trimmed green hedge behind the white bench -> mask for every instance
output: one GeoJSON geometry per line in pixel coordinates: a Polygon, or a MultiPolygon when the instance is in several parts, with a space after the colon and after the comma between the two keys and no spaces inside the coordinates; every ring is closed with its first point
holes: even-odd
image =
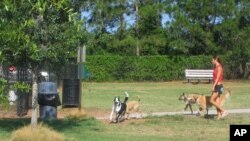
{"type": "Polygon", "coordinates": [[[212,69],[211,56],[88,56],[90,81],[170,81],[184,70],[212,69]]]}

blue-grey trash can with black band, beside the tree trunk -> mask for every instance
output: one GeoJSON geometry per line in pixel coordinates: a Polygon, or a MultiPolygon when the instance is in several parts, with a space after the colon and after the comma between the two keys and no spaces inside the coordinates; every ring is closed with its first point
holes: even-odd
{"type": "Polygon", "coordinates": [[[57,85],[54,82],[41,82],[38,85],[39,117],[41,119],[56,119],[59,106],[57,85]]]}

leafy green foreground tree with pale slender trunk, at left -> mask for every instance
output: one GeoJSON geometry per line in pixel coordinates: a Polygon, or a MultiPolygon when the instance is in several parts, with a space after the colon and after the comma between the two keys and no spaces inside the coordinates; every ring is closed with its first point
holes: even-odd
{"type": "Polygon", "coordinates": [[[26,66],[33,72],[32,125],[37,124],[40,69],[60,69],[72,61],[77,47],[84,42],[79,11],[74,6],[70,0],[0,2],[1,52],[9,63],[26,66]]]}

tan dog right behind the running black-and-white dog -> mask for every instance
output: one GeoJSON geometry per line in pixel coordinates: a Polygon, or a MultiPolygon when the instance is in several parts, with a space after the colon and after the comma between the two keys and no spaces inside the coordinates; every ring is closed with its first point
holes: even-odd
{"type": "Polygon", "coordinates": [[[127,119],[129,119],[129,114],[133,112],[140,112],[140,97],[137,96],[138,100],[137,101],[129,101],[127,103],[127,109],[126,109],[126,114],[127,114],[127,119]]]}

